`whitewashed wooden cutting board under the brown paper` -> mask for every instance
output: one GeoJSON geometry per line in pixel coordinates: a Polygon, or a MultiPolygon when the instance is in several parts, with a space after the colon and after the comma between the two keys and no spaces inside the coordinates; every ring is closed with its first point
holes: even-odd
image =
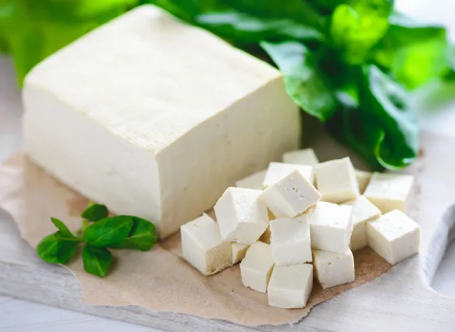
{"type": "MultiPolygon", "coordinates": [[[[312,133],[322,160],[348,152],[312,133]]],[[[262,331],[453,331],[455,299],[429,286],[455,224],[455,137],[424,131],[422,153],[410,167],[416,177],[410,214],[422,226],[420,254],[392,267],[378,279],[319,304],[300,323],[261,326],[262,331]]],[[[153,326],[164,331],[257,331],[227,321],[156,312],[136,306],[90,306],[80,301],[75,277],[63,267],[39,260],[21,240],[16,223],[0,214],[0,292],[11,297],[153,326]]]]}

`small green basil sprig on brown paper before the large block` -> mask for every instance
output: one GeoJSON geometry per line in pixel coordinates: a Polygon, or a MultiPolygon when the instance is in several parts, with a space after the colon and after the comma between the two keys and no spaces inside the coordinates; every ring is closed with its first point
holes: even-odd
{"type": "Polygon", "coordinates": [[[81,214],[82,227],[76,236],[57,218],[50,218],[58,231],[38,243],[38,256],[53,264],[66,264],[76,254],[79,243],[82,249],[84,270],[105,277],[112,265],[109,248],[150,250],[158,236],[153,223],[136,216],[109,216],[107,207],[90,202],[81,214]]]}

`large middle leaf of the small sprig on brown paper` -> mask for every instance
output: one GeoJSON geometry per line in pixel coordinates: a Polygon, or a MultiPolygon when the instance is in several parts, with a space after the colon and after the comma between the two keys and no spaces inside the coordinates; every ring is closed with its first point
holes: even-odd
{"type": "Polygon", "coordinates": [[[122,245],[133,226],[129,216],[112,216],[101,219],[88,226],[83,234],[84,240],[99,248],[122,245]]]}

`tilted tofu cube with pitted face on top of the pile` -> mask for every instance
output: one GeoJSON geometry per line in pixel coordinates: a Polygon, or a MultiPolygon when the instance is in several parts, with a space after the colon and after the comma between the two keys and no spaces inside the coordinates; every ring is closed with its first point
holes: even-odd
{"type": "Polygon", "coordinates": [[[321,194],[298,170],[264,190],[260,199],[277,218],[294,218],[321,199],[321,194]]]}

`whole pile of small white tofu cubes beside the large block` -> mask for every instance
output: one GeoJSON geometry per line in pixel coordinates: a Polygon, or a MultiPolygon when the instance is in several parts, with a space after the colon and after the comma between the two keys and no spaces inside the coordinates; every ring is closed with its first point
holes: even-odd
{"type": "Polygon", "coordinates": [[[323,288],[355,280],[354,250],[369,245],[390,264],[418,252],[419,225],[403,212],[412,182],[291,151],[228,188],[217,221],[181,226],[183,258],[203,275],[240,262],[245,287],[267,292],[270,306],[303,308],[314,277],[323,288]]]}

